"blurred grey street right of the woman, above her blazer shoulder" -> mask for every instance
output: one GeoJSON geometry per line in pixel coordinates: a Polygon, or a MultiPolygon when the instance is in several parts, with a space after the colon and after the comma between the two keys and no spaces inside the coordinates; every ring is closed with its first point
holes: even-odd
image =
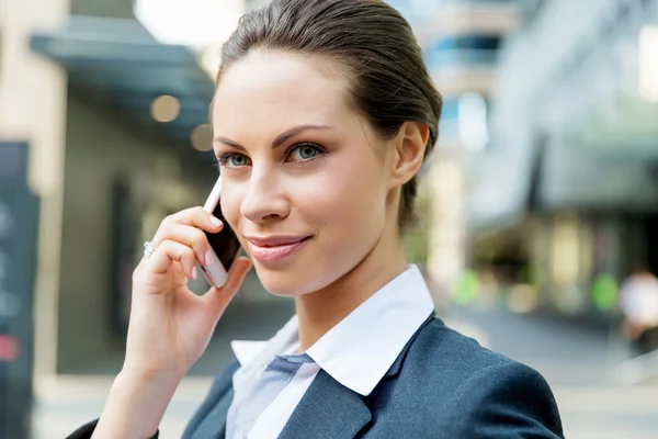
{"type": "Polygon", "coordinates": [[[567,438],[658,438],[658,385],[622,386],[614,370],[626,349],[614,337],[515,314],[473,313],[463,324],[487,347],[532,365],[551,383],[567,438]]]}

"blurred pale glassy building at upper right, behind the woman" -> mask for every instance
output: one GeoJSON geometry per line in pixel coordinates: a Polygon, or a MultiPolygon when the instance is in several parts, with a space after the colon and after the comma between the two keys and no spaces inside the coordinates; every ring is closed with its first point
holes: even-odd
{"type": "Polygon", "coordinates": [[[544,0],[499,52],[472,263],[512,266],[536,306],[604,316],[602,277],[658,270],[657,26],[656,0],[544,0]]]}

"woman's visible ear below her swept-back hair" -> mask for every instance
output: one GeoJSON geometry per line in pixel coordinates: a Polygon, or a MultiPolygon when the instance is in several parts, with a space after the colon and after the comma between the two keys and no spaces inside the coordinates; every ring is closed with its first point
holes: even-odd
{"type": "Polygon", "coordinates": [[[393,154],[390,187],[401,187],[420,170],[424,158],[430,128],[422,122],[405,122],[396,137],[393,154]]]}

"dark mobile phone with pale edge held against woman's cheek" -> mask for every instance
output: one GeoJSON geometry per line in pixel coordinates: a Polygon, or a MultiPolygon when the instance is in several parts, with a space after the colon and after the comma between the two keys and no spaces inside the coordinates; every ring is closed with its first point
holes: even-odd
{"type": "Polygon", "coordinates": [[[240,251],[240,241],[222,214],[222,206],[219,203],[220,194],[222,178],[217,178],[217,182],[203,206],[205,211],[211,212],[224,223],[224,227],[219,233],[211,234],[204,232],[211,245],[213,263],[206,267],[200,264],[200,269],[211,286],[215,288],[224,286],[228,280],[228,270],[230,270],[230,267],[240,251]]]}

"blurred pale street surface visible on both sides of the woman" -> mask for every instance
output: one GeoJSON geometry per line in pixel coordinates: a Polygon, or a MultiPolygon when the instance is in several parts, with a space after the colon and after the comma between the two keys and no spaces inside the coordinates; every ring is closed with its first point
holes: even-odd
{"type": "MultiPolygon", "coordinates": [[[[222,337],[222,328],[230,326],[231,334],[243,338],[253,338],[250,327],[259,327],[259,333],[273,333],[290,315],[291,309],[285,305],[262,306],[258,312],[251,306],[249,315],[239,322],[234,318],[239,306],[232,308],[207,354],[180,386],[161,425],[163,439],[180,438],[204,397],[211,379],[198,374],[218,370],[229,358],[229,339],[222,337]],[[265,328],[263,322],[271,323],[270,327],[265,328]]],[[[616,384],[613,370],[623,361],[625,350],[619,341],[611,342],[605,334],[549,318],[503,312],[463,312],[446,322],[487,347],[542,372],[556,394],[567,438],[658,438],[658,384],[616,384]]],[[[45,384],[35,410],[35,439],[59,439],[99,416],[111,380],[111,375],[70,375],[60,378],[57,384],[45,384]]]]}

